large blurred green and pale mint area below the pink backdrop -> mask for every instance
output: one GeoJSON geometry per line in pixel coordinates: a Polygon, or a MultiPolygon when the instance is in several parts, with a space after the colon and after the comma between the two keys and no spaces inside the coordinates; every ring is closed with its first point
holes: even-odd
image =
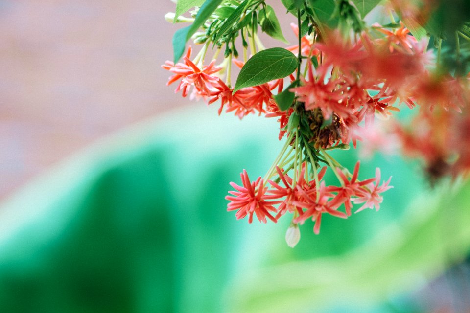
{"type": "Polygon", "coordinates": [[[416,163],[376,155],[359,177],[393,176],[380,211],[326,216],[319,235],[306,222],[292,249],[287,216],[236,221],[224,200],[242,169],[262,176],[277,155],[275,119],[216,109],[196,103],[104,138],[6,201],[0,312],[469,308],[467,182],[430,189],[416,163]]]}

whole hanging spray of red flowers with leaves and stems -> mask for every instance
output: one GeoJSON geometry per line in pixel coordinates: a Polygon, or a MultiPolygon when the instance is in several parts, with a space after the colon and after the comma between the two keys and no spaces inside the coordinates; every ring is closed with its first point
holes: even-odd
{"type": "Polygon", "coordinates": [[[279,122],[284,144],[264,177],[253,180],[243,170],[241,184],[230,183],[227,210],[236,211],[237,219],[276,223],[289,216],[286,241],[295,246],[298,224],[306,220],[318,234],[323,214],[346,219],[365,208],[378,210],[382,193],[392,188],[390,179],[381,180],[378,168],[375,177],[360,179],[359,161],[350,171],[330,150],[355,148],[377,116],[393,117],[403,104],[419,107],[412,125],[420,127],[397,121],[382,136],[394,133],[405,155],[423,160],[431,179],[468,171],[465,0],[281,0],[284,12],[297,20],[291,28],[298,42],[268,49],[259,32],[286,40],[267,2],[179,1],[176,13],[167,15],[172,22],[190,23],[174,35],[174,62],[162,66],[173,73],[168,85],[177,84],[183,97],[218,103],[219,114],[242,119],[257,113],[279,122]],[[190,17],[183,17],[191,9],[190,17]],[[374,9],[388,14],[390,22],[367,25],[364,17],[374,9]],[[202,46],[195,57],[186,49],[189,40],[202,46]],[[234,66],[241,68],[235,84],[234,66]],[[325,183],[327,170],[337,177],[336,185],[325,183]]]}

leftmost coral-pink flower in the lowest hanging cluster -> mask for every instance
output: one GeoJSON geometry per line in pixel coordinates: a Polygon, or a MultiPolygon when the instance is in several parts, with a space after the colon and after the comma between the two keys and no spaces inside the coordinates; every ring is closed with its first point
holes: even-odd
{"type": "Polygon", "coordinates": [[[265,192],[268,188],[263,187],[261,177],[258,177],[254,182],[250,182],[245,170],[240,174],[240,177],[243,186],[238,186],[234,182],[230,183],[237,191],[229,191],[233,196],[225,197],[225,199],[230,201],[230,203],[227,204],[227,211],[238,210],[235,214],[237,220],[243,219],[248,215],[248,223],[253,222],[253,213],[256,214],[256,217],[262,223],[266,223],[266,217],[276,223],[276,218],[273,217],[269,211],[276,212],[277,210],[273,204],[278,204],[282,201],[265,201],[265,192]]]}

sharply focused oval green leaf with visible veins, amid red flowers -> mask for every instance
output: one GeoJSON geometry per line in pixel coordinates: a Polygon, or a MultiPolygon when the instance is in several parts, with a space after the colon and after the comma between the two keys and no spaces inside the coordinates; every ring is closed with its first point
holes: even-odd
{"type": "Polygon", "coordinates": [[[236,79],[234,93],[242,88],[258,86],[284,78],[297,68],[297,58],[284,48],[259,51],[243,66],[236,79]]]}

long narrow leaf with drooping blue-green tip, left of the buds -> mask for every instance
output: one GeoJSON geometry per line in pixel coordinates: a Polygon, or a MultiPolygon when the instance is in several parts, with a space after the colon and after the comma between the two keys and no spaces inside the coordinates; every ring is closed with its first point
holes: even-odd
{"type": "Polygon", "coordinates": [[[175,63],[185,52],[186,42],[211,16],[212,12],[222,3],[223,0],[206,0],[197,12],[196,19],[191,26],[178,30],[173,36],[173,53],[175,63]]]}

